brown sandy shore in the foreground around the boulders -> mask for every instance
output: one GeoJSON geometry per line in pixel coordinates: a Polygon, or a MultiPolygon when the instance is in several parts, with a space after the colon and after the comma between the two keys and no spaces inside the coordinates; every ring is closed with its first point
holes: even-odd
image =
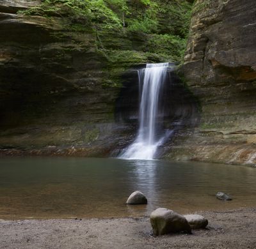
{"type": "Polygon", "coordinates": [[[161,237],[148,217],[0,220],[0,248],[256,248],[256,208],[197,213],[207,229],[161,237]]]}

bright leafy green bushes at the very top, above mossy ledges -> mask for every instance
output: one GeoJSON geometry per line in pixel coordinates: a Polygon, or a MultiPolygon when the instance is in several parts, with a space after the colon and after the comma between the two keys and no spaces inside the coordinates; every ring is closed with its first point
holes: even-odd
{"type": "Polygon", "coordinates": [[[67,17],[94,29],[145,34],[172,34],[186,38],[191,4],[182,0],[42,0],[26,15],[67,17]]]}

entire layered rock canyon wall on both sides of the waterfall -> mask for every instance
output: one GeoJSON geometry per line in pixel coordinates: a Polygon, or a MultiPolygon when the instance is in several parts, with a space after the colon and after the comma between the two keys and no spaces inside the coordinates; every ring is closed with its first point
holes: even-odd
{"type": "MultiPolygon", "coordinates": [[[[180,5],[159,1],[157,31],[147,34],[19,12],[40,3],[0,3],[0,154],[116,155],[136,135],[136,70],[180,54],[180,5]]],[[[255,165],[255,10],[254,0],[195,1],[182,82],[170,73],[165,94],[175,132],[159,156],[255,165]]]]}

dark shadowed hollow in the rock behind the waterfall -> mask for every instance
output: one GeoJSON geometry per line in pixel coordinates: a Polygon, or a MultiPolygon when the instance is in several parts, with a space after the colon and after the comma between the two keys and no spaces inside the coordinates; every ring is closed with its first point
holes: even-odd
{"type": "MultiPolygon", "coordinates": [[[[145,68],[145,65],[138,69],[141,68],[145,68]]],[[[125,73],[123,85],[116,100],[116,120],[138,123],[140,109],[138,70],[133,69],[125,73]]],[[[171,68],[166,73],[159,99],[161,100],[159,102],[160,119],[169,126],[174,122],[186,123],[188,126],[197,123],[199,115],[196,100],[171,68]]]]}

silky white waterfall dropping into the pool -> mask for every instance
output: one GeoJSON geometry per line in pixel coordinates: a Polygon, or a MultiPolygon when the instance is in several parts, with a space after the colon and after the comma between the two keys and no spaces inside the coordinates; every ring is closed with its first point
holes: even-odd
{"type": "Polygon", "coordinates": [[[161,123],[163,116],[159,98],[168,66],[168,63],[147,64],[146,68],[139,70],[140,126],[136,139],[124,150],[120,158],[152,160],[157,147],[163,144],[166,134],[159,138],[156,132],[157,124],[161,123]]]}

